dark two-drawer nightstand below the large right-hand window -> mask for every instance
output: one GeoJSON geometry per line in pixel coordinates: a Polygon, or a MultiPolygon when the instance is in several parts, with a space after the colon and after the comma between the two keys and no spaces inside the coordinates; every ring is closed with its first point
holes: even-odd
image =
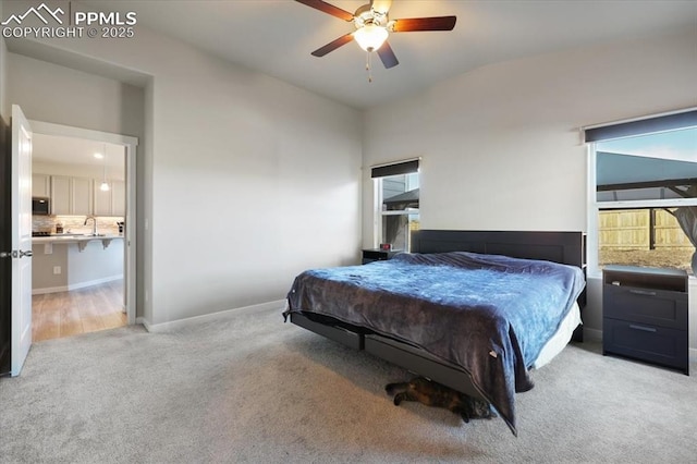
{"type": "Polygon", "coordinates": [[[607,266],[602,276],[602,354],[689,375],[687,272],[607,266]]]}

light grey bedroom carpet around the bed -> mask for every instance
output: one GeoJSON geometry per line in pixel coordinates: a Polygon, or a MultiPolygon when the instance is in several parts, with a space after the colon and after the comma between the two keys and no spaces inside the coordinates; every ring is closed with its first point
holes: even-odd
{"type": "Polygon", "coordinates": [[[282,320],[36,343],[0,379],[0,462],[697,462],[695,363],[687,377],[572,344],[517,395],[516,438],[394,406],[383,387],[409,374],[282,320]]]}

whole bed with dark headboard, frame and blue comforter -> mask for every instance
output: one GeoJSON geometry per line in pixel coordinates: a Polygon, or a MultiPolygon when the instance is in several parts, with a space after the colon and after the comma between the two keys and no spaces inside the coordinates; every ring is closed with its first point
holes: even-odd
{"type": "Polygon", "coordinates": [[[517,436],[529,370],[583,340],[584,272],[582,232],[423,230],[409,254],[298,274],[283,315],[490,402],[517,436]]]}

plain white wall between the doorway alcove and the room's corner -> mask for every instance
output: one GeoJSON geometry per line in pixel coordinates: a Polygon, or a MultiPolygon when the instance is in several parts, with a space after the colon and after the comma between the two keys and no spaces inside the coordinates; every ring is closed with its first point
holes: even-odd
{"type": "Polygon", "coordinates": [[[49,41],[151,76],[139,194],[149,323],[281,300],[308,267],[358,261],[359,112],[140,26],[129,40],[49,41]]]}

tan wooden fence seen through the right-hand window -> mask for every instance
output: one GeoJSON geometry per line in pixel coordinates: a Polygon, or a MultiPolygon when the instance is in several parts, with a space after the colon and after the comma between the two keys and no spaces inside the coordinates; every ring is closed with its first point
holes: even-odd
{"type": "Polygon", "coordinates": [[[600,211],[599,245],[615,249],[692,248],[677,220],[664,209],[600,211]]]}

